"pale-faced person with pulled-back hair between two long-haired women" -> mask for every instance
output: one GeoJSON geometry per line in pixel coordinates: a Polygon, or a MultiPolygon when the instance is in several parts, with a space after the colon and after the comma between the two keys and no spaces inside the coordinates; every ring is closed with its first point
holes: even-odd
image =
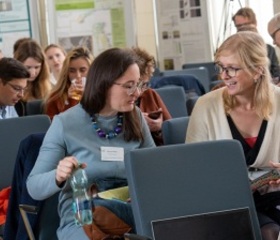
{"type": "Polygon", "coordinates": [[[54,86],[59,78],[66,52],[61,46],[50,44],[45,48],[45,55],[51,72],[51,83],[54,86]]]}

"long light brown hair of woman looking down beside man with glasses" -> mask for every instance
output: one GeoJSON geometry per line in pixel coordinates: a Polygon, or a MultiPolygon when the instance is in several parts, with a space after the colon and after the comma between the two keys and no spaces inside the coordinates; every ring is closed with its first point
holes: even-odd
{"type": "Polygon", "coordinates": [[[51,83],[49,67],[40,45],[34,40],[25,39],[16,49],[14,58],[22,63],[28,58],[33,58],[41,63],[38,76],[34,81],[28,81],[28,90],[25,92],[23,100],[44,99],[51,90],[51,83]]]}

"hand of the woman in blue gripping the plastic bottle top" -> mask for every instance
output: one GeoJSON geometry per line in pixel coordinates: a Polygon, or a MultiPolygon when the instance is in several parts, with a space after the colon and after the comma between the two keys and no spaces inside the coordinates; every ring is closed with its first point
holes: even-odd
{"type": "Polygon", "coordinates": [[[55,180],[57,186],[61,186],[73,173],[73,171],[79,166],[78,160],[71,156],[65,157],[59,161],[56,168],[55,180]]]}

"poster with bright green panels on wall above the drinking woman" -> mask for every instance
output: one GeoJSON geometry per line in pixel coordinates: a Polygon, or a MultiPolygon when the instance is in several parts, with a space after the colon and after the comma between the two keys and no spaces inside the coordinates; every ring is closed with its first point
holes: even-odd
{"type": "Polygon", "coordinates": [[[130,45],[127,39],[127,31],[130,31],[127,27],[127,2],[54,0],[53,16],[56,19],[53,29],[56,31],[51,40],[66,51],[76,46],[86,46],[95,56],[111,47],[126,47],[130,45]]]}

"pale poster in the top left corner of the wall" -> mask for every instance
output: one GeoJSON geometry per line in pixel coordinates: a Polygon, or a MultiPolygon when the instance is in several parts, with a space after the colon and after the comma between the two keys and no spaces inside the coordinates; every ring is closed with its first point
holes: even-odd
{"type": "Polygon", "coordinates": [[[4,56],[13,56],[13,44],[22,37],[32,37],[28,1],[0,1],[0,49],[4,56]]]}

